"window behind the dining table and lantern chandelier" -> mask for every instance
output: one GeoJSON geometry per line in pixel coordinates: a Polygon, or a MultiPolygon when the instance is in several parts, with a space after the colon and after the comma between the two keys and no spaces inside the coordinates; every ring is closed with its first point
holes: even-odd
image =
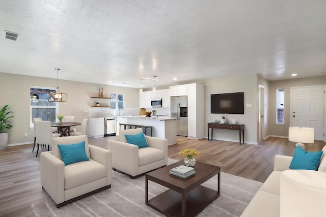
{"type": "Polygon", "coordinates": [[[55,90],[48,87],[30,87],[30,126],[33,118],[42,117],[42,120],[56,122],[58,103],[48,102],[47,93],[55,90]]]}

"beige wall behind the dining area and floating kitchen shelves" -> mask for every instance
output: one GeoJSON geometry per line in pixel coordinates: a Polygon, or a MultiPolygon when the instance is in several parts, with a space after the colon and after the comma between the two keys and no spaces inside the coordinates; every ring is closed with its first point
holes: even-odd
{"type": "MultiPolygon", "coordinates": [[[[95,105],[96,100],[90,97],[98,96],[98,88],[103,87],[104,97],[109,97],[110,92],[125,94],[126,108],[139,107],[139,92],[136,88],[99,85],[94,83],[76,81],[58,81],[60,90],[67,94],[67,102],[59,103],[59,113],[76,116],[77,122],[88,118],[89,107],[95,105]]],[[[34,131],[30,128],[30,86],[56,87],[57,79],[32,77],[0,73],[0,108],[9,105],[14,118],[11,119],[13,128],[8,130],[8,144],[28,144],[34,141],[34,131]],[[28,133],[24,137],[24,133],[28,133]]],[[[104,100],[104,99],[100,99],[104,100]]],[[[76,127],[82,131],[81,126],[76,127]]]]}

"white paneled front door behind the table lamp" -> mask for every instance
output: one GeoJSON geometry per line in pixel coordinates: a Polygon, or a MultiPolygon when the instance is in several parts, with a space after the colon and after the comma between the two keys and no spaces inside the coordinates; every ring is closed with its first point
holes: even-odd
{"type": "Polygon", "coordinates": [[[324,86],[291,87],[291,126],[315,129],[315,140],[324,135],[324,86]]]}

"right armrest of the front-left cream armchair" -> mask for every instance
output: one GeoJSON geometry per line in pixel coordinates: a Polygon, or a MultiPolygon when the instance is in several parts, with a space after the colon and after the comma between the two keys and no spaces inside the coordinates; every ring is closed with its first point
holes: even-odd
{"type": "Polygon", "coordinates": [[[106,167],[106,185],[112,183],[112,152],[110,150],[88,145],[91,159],[106,167]]]}

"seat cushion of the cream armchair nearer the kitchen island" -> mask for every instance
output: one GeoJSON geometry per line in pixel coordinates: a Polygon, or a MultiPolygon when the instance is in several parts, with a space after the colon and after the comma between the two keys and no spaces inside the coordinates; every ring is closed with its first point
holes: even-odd
{"type": "Polygon", "coordinates": [[[144,166],[146,164],[160,161],[165,157],[164,150],[158,148],[152,148],[152,147],[139,149],[138,155],[139,155],[139,166],[144,166]]]}

